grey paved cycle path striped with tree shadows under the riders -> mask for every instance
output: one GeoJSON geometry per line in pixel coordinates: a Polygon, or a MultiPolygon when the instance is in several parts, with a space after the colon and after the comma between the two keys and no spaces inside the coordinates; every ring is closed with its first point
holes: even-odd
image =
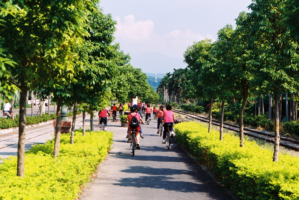
{"type": "Polygon", "coordinates": [[[154,120],[142,125],[145,138],[133,157],[127,129],[108,124],[108,131],[114,131],[113,148],[81,200],[232,199],[179,145],[174,142],[167,150],[156,126],[154,120]]]}

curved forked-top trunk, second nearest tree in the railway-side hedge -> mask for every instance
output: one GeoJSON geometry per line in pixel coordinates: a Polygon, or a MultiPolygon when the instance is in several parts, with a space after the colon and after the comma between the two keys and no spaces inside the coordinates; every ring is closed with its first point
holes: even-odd
{"type": "Polygon", "coordinates": [[[240,147],[243,147],[244,146],[243,112],[244,112],[244,109],[245,109],[246,103],[247,103],[248,86],[244,79],[241,79],[241,84],[242,84],[242,88],[243,88],[243,92],[242,92],[243,101],[242,101],[242,106],[240,108],[240,113],[239,113],[239,131],[240,131],[240,147]]]}

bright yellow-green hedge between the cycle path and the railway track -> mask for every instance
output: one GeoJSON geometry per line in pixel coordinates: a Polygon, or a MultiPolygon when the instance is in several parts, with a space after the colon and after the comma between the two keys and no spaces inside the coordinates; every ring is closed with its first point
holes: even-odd
{"type": "Polygon", "coordinates": [[[299,158],[279,155],[272,162],[273,152],[245,139],[219,133],[196,122],[176,124],[176,137],[205,167],[219,177],[240,199],[299,199],[299,158]]]}

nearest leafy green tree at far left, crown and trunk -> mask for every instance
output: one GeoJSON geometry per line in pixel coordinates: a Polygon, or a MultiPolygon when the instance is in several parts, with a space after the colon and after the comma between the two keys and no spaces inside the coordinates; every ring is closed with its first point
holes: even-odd
{"type": "MultiPolygon", "coordinates": [[[[21,90],[19,116],[19,143],[17,175],[24,176],[26,103],[28,88],[43,83],[41,74],[54,70],[38,61],[53,59],[60,45],[85,34],[81,26],[86,22],[84,11],[91,1],[1,1],[1,20],[6,21],[0,29],[5,39],[4,49],[18,65],[12,75],[21,90]],[[13,3],[13,4],[12,4],[13,3]],[[8,12],[9,11],[9,12],[8,12]],[[8,14],[8,13],[11,13],[8,14]]],[[[53,65],[52,65],[53,66],[53,65]]],[[[68,69],[65,69],[68,70],[68,69]]]]}

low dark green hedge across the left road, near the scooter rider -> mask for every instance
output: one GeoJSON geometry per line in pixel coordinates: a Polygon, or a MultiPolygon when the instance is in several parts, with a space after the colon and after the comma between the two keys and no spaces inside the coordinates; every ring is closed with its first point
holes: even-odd
{"type": "MultiPolygon", "coordinates": [[[[30,124],[49,121],[52,119],[56,119],[56,114],[50,114],[50,116],[48,116],[48,113],[46,113],[46,114],[43,114],[42,117],[40,117],[39,115],[36,115],[34,117],[27,116],[26,124],[30,125],[30,124]]],[[[0,129],[9,129],[9,128],[18,127],[18,126],[19,126],[19,115],[17,115],[13,120],[6,119],[3,117],[0,118],[0,129]]]]}

